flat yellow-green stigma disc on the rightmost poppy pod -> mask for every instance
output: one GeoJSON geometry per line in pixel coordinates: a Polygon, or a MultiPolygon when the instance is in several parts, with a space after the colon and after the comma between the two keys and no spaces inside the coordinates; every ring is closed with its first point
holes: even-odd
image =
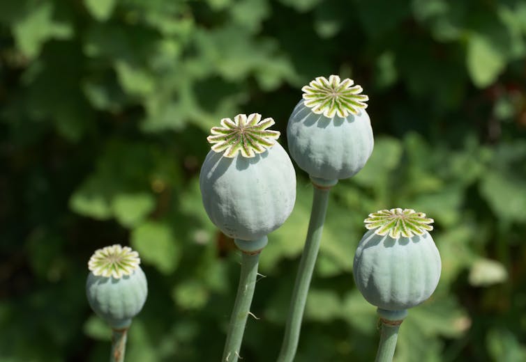
{"type": "Polygon", "coordinates": [[[426,214],[412,209],[402,210],[400,207],[373,212],[363,222],[368,230],[375,230],[375,234],[389,234],[393,239],[423,235],[424,230],[433,230],[433,226],[429,225],[433,219],[426,217],[426,214]]]}

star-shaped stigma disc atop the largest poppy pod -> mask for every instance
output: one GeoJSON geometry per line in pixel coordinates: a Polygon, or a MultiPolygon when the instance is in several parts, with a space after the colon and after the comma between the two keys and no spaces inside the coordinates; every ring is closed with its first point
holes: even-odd
{"type": "Polygon", "coordinates": [[[280,132],[267,129],[273,124],[272,118],[261,120],[259,113],[238,114],[234,120],[223,118],[223,127],[212,127],[211,135],[206,139],[212,144],[213,151],[224,152],[225,157],[232,158],[241,152],[241,156],[250,158],[276,143],[280,132]]]}

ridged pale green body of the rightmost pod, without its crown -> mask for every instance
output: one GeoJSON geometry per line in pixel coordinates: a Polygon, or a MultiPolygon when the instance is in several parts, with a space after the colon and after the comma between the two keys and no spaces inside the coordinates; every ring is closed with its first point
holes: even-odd
{"type": "Polygon", "coordinates": [[[354,281],[363,297],[386,310],[412,308],[428,299],[438,285],[441,260],[433,238],[393,239],[369,230],[354,255],[354,281]]]}

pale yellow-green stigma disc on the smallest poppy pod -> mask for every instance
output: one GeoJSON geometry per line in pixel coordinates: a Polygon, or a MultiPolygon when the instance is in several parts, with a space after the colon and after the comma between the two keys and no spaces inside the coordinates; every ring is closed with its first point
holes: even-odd
{"type": "Polygon", "coordinates": [[[139,253],[129,246],[115,244],[98,249],[91,255],[88,268],[96,276],[119,279],[131,275],[140,265],[139,253]]]}

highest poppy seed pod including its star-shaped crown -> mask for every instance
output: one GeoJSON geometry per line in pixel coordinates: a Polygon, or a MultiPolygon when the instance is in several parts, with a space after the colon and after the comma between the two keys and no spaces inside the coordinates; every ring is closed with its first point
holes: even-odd
{"type": "Polygon", "coordinates": [[[351,79],[317,77],[301,88],[287,125],[292,159],[311,178],[341,180],[363,168],[373,152],[369,98],[351,79]]]}

